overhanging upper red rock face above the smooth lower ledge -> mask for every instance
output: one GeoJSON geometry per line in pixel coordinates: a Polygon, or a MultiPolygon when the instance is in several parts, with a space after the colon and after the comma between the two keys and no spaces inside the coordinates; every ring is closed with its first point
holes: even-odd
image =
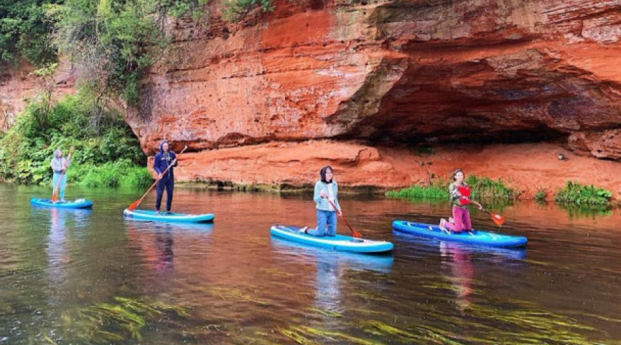
{"type": "Polygon", "coordinates": [[[621,122],[621,0],[324,5],[277,2],[238,27],[177,22],[128,116],[144,150],[537,141],[621,122]]]}

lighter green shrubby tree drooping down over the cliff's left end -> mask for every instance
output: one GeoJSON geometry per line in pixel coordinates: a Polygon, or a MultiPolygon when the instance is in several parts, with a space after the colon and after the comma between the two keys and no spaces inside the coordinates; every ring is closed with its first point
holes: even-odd
{"type": "Polygon", "coordinates": [[[79,66],[81,78],[103,95],[139,101],[139,81],[170,43],[168,16],[198,19],[206,0],[66,0],[57,45],[79,66]]]}

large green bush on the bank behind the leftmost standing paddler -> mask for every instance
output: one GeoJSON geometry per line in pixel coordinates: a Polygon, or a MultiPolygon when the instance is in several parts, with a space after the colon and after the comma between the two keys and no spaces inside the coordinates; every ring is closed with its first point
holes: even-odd
{"type": "MultiPolygon", "coordinates": [[[[123,179],[141,181],[141,175],[128,168],[128,164],[138,167],[146,161],[138,139],[117,112],[102,110],[99,125],[93,124],[91,106],[88,92],[67,96],[53,106],[46,101],[31,103],[0,139],[0,176],[19,184],[47,183],[52,177],[54,150],[61,148],[66,154],[73,147],[68,176],[80,166],[92,168],[115,162],[125,169],[123,179]]],[[[95,172],[101,174],[97,179],[105,179],[104,186],[124,184],[113,181],[119,177],[105,177],[108,170],[87,169],[79,176],[90,174],[89,179],[95,179],[95,172]]]]}

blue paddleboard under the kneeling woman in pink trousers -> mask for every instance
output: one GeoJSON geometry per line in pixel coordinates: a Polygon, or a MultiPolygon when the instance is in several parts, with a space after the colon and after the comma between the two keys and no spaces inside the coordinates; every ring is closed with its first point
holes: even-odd
{"type": "Polygon", "coordinates": [[[526,242],[529,242],[529,240],[523,236],[502,235],[482,230],[451,233],[450,231],[442,230],[440,226],[437,225],[404,220],[393,221],[393,229],[401,231],[402,233],[410,233],[422,237],[497,248],[522,247],[526,246],[526,242]]]}

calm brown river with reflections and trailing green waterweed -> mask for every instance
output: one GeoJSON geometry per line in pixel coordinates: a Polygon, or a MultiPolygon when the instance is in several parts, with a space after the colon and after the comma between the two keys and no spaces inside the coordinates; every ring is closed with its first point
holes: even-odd
{"type": "Polygon", "coordinates": [[[143,192],[70,186],[95,207],[56,210],[28,204],[49,188],[0,185],[0,343],[621,344],[618,210],[494,208],[530,242],[493,250],[391,230],[447,203],[342,196],[352,226],[395,244],[373,256],[270,238],[314,224],[312,195],[177,188],[174,210],[215,223],[124,220],[143,192]]]}

